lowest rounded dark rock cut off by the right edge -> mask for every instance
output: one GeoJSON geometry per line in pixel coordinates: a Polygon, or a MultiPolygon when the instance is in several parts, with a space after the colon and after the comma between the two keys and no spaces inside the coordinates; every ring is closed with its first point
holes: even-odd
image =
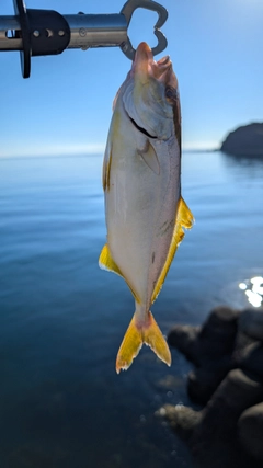
{"type": "Polygon", "coordinates": [[[238,435],[245,450],[263,461],[263,403],[255,404],[241,414],[238,435]]]}

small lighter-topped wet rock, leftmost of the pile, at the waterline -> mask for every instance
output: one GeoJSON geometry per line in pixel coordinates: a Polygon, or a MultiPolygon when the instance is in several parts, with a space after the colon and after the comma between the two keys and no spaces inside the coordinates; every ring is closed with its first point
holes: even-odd
{"type": "Polygon", "coordinates": [[[202,421],[202,411],[194,411],[184,404],[176,404],[175,407],[164,404],[156,414],[165,418],[171,427],[184,440],[192,436],[193,431],[202,421]]]}

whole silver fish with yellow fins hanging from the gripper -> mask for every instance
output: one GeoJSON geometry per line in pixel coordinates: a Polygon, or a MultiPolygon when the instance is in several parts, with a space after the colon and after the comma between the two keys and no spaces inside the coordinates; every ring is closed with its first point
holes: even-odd
{"type": "Polygon", "coordinates": [[[145,42],[113,103],[103,190],[107,241],[99,265],[122,276],[135,298],[116,372],[128,369],[144,343],[170,366],[171,353],[150,307],[194,218],[181,196],[178,79],[170,57],[155,61],[145,42]]]}

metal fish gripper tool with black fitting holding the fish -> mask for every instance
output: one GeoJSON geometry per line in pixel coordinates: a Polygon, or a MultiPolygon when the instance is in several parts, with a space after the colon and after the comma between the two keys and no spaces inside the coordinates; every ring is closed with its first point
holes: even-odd
{"type": "Polygon", "coordinates": [[[153,55],[164,50],[167,38],[160,31],[168,12],[153,0],[128,0],[117,14],[60,14],[54,10],[26,9],[24,0],[13,0],[14,16],[0,15],[0,52],[19,50],[23,78],[31,73],[31,57],[61,54],[67,48],[118,46],[130,60],[135,49],[128,26],[136,9],[158,13],[153,26],[158,44],[153,55]]]}

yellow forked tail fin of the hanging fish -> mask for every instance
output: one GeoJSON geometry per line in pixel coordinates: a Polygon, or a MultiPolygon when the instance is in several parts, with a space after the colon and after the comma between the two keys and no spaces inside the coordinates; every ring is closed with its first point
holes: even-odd
{"type": "Polygon", "coordinates": [[[116,359],[117,374],[122,369],[127,370],[129,368],[144,343],[150,346],[168,366],[171,365],[170,350],[152,313],[148,312],[148,320],[142,324],[138,322],[135,313],[118,350],[116,359]]]}

